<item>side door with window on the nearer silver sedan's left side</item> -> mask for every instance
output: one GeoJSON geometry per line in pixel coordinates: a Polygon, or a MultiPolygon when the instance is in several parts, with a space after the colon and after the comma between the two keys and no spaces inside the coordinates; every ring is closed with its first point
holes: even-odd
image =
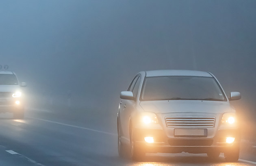
{"type": "MultiPolygon", "coordinates": [[[[130,83],[130,86],[128,87],[128,91],[131,91],[134,89],[135,83],[137,82],[139,76],[136,76],[132,82],[130,83]]],[[[121,99],[119,103],[119,118],[120,118],[120,127],[123,136],[126,139],[129,139],[129,118],[130,118],[130,107],[132,106],[132,103],[134,104],[135,102],[133,100],[125,100],[121,99]]]]}

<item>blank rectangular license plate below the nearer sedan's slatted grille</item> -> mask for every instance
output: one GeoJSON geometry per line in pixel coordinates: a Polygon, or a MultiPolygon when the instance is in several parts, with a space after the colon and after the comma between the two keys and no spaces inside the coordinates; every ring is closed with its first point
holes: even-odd
{"type": "Polygon", "coordinates": [[[207,129],[174,129],[174,136],[179,137],[206,137],[207,129]]]}

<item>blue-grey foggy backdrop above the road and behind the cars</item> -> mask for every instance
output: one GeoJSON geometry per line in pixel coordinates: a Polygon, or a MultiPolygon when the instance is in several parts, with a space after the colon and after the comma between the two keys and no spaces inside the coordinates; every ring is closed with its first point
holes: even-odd
{"type": "Polygon", "coordinates": [[[255,133],[255,0],[1,0],[0,64],[40,102],[66,106],[70,91],[112,117],[141,70],[210,71],[241,92],[232,103],[255,133]]]}

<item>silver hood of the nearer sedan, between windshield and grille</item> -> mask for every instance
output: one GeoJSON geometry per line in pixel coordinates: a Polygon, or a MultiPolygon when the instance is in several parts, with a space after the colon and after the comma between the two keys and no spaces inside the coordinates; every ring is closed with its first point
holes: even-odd
{"type": "Polygon", "coordinates": [[[140,102],[144,111],[154,113],[224,113],[232,112],[229,102],[206,100],[160,100],[140,102]]]}

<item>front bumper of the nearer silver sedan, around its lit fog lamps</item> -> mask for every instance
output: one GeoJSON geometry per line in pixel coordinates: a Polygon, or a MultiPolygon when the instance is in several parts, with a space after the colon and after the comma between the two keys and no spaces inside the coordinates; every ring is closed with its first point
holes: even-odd
{"type": "Polygon", "coordinates": [[[170,138],[163,129],[135,128],[134,139],[137,147],[148,153],[207,153],[208,151],[225,152],[239,147],[239,128],[221,128],[213,137],[206,138],[170,138]],[[154,138],[154,143],[146,143],[144,137],[154,138]],[[226,137],[234,137],[234,143],[226,143],[226,137]]]}

